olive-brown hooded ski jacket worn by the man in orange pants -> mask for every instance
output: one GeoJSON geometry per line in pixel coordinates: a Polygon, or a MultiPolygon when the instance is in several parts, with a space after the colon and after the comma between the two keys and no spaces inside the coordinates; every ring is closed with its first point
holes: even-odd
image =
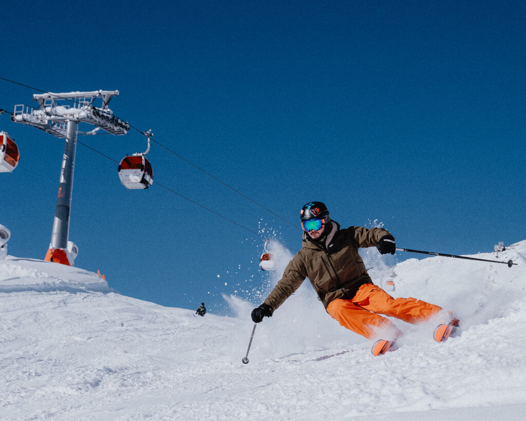
{"type": "Polygon", "coordinates": [[[372,282],[358,249],[376,245],[382,237],[390,235],[389,231],[365,227],[340,229],[338,222],[331,222],[332,229],[324,243],[312,241],[304,232],[301,250],[265,300],[272,311],[283,304],[305,278],[309,278],[326,308],[337,298],[352,299],[361,285],[372,282]]]}

